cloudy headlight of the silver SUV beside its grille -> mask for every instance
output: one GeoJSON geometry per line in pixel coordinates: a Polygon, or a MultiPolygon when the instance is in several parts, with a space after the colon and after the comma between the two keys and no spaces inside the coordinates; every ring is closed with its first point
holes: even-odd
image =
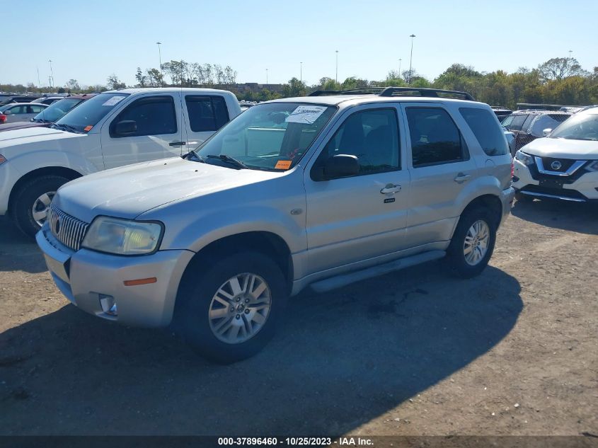
{"type": "Polygon", "coordinates": [[[163,225],[157,222],[97,217],[81,246],[117,255],[142,255],[156,251],[162,232],[163,225]]]}

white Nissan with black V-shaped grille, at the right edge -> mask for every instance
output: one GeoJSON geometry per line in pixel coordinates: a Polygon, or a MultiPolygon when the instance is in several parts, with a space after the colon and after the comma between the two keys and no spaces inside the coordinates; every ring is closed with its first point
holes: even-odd
{"type": "Polygon", "coordinates": [[[598,108],[577,113],[544,134],[515,154],[517,200],[598,201],[598,108]]]}

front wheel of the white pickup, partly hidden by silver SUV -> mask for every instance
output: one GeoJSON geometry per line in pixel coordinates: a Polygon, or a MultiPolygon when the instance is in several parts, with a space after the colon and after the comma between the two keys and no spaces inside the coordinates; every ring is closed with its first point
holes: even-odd
{"type": "Polygon", "coordinates": [[[70,179],[63,176],[40,176],[21,185],[13,200],[13,220],[23,234],[35,238],[45,222],[47,210],[56,191],[70,179]],[[35,207],[35,212],[34,212],[35,207]]]}

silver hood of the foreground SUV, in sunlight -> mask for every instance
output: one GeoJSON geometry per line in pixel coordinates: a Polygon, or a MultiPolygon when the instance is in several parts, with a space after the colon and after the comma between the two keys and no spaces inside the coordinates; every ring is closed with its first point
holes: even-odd
{"type": "Polygon", "coordinates": [[[149,209],[283,175],[236,170],[175,157],[114,168],[73,180],[58,190],[54,204],[91,222],[99,214],[133,219],[149,209]]]}

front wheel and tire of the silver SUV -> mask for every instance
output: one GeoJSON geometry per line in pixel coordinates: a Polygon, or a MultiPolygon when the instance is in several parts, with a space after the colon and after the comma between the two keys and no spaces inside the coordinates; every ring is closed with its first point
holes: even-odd
{"type": "Polygon", "coordinates": [[[265,347],[286,302],[284,275],[271,258],[235,253],[217,260],[199,279],[185,275],[174,326],[201,355],[229,364],[265,347]]]}

